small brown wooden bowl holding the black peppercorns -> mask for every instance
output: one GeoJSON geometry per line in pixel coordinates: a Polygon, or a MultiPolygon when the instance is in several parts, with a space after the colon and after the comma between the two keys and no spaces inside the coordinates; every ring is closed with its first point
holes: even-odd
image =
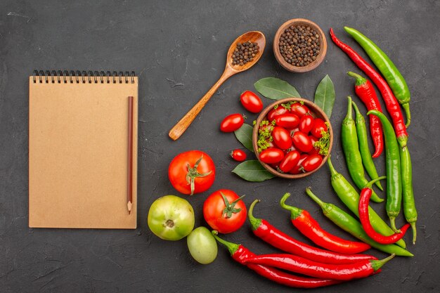
{"type": "Polygon", "coordinates": [[[327,53],[327,40],[325,39],[325,34],[323,30],[321,30],[321,27],[318,27],[315,22],[312,22],[310,20],[306,20],[304,18],[293,18],[291,20],[287,20],[283,23],[283,25],[280,26],[280,28],[277,30],[275,34],[275,39],[273,39],[273,53],[275,54],[275,58],[280,63],[280,65],[285,69],[289,70],[290,72],[308,72],[310,70],[315,69],[320,65],[324,58],[325,54],[327,53]],[[309,63],[306,66],[294,66],[290,63],[287,63],[286,60],[284,60],[283,56],[280,53],[280,37],[281,34],[284,33],[284,31],[287,29],[287,27],[290,27],[290,25],[306,25],[311,27],[313,30],[316,30],[318,32],[319,39],[321,39],[321,50],[313,62],[309,63]]]}

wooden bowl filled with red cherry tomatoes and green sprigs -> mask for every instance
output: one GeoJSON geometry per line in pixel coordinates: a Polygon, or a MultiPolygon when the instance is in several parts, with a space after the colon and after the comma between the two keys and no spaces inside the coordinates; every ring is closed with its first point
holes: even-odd
{"type": "Polygon", "coordinates": [[[333,131],[325,112],[304,98],[277,100],[265,108],[252,133],[261,165],[282,178],[318,171],[332,150],[333,131]]]}

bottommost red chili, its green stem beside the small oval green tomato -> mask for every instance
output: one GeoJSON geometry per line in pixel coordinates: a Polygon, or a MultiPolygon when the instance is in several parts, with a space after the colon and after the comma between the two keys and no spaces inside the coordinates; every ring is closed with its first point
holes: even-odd
{"type": "Polygon", "coordinates": [[[252,271],[263,276],[264,278],[268,278],[269,280],[273,280],[274,282],[278,282],[279,284],[295,288],[316,288],[335,285],[341,282],[340,280],[299,277],[297,275],[291,275],[290,273],[279,271],[276,268],[262,266],[255,263],[247,263],[247,259],[255,256],[253,252],[242,245],[227,242],[226,240],[221,239],[216,235],[216,231],[212,231],[212,235],[214,235],[218,242],[228,248],[229,253],[231,253],[232,258],[235,261],[244,266],[247,266],[252,271]]]}

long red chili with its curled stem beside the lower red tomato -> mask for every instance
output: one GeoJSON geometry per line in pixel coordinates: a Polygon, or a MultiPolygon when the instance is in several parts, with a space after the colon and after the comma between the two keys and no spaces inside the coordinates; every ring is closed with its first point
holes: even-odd
{"type": "Polygon", "coordinates": [[[311,261],[318,261],[319,263],[356,263],[357,261],[376,259],[368,254],[341,254],[307,245],[277,230],[268,221],[254,218],[252,216],[252,209],[253,207],[251,206],[247,213],[252,226],[252,232],[268,244],[284,252],[302,256],[311,261]]]}

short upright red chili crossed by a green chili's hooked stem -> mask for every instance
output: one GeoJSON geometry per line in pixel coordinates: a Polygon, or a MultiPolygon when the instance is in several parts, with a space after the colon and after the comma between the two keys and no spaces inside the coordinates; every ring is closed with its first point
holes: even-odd
{"type": "MultiPolygon", "coordinates": [[[[354,72],[347,72],[347,74],[356,78],[354,91],[362,100],[365,107],[367,107],[367,110],[377,110],[382,112],[382,107],[380,106],[373,84],[371,84],[368,79],[361,77],[361,75],[354,72]]],[[[375,153],[372,157],[379,157],[384,150],[384,137],[382,136],[382,124],[380,123],[380,119],[375,117],[375,115],[370,115],[370,133],[375,145],[375,153]]]]}

